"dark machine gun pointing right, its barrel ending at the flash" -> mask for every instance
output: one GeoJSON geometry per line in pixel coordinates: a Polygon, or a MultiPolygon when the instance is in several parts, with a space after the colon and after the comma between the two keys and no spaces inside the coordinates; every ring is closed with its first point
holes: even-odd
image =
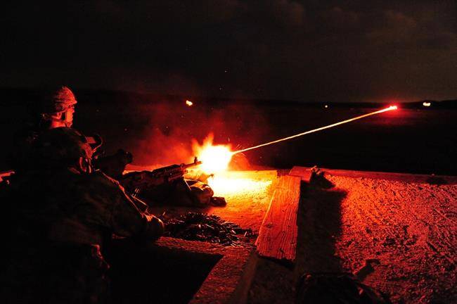
{"type": "Polygon", "coordinates": [[[167,167],[160,167],[153,171],[135,171],[129,172],[120,177],[119,182],[127,192],[136,194],[142,189],[150,189],[154,186],[173,182],[176,179],[182,178],[189,167],[195,167],[200,165],[202,162],[196,157],[193,163],[181,165],[169,165],[167,167]]]}

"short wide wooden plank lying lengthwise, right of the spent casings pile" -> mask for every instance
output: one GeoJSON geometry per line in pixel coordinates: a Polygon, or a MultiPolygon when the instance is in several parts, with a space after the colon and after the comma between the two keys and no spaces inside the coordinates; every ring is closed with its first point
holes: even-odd
{"type": "Polygon", "coordinates": [[[259,256],[295,261],[299,201],[300,177],[280,177],[255,242],[259,256]]]}

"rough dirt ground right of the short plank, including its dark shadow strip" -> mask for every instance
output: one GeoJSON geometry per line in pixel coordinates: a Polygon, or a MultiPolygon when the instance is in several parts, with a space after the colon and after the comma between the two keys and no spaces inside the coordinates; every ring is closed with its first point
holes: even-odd
{"type": "Polygon", "coordinates": [[[393,303],[457,303],[457,185],[326,176],[302,186],[295,268],[261,260],[250,303],[293,303],[304,272],[352,272],[393,303]]]}

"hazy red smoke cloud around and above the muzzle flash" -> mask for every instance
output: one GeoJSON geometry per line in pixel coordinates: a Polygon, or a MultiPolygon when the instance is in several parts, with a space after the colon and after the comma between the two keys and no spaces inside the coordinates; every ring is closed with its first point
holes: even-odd
{"type": "MultiPolygon", "coordinates": [[[[266,137],[269,127],[259,108],[252,103],[189,99],[142,102],[136,105],[135,120],[141,130],[130,139],[135,165],[167,165],[193,160],[193,141],[202,143],[214,134],[213,144],[243,148],[266,137]]],[[[231,167],[245,169],[243,155],[231,167]]]]}

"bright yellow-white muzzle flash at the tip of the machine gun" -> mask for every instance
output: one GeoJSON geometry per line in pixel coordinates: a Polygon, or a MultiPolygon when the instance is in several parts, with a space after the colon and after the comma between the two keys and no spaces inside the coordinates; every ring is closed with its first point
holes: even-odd
{"type": "Polygon", "coordinates": [[[227,170],[228,163],[233,156],[230,151],[230,145],[212,144],[214,139],[213,134],[209,134],[203,144],[198,144],[198,141],[193,141],[192,148],[195,156],[202,161],[200,169],[206,174],[213,174],[227,170]]]}

